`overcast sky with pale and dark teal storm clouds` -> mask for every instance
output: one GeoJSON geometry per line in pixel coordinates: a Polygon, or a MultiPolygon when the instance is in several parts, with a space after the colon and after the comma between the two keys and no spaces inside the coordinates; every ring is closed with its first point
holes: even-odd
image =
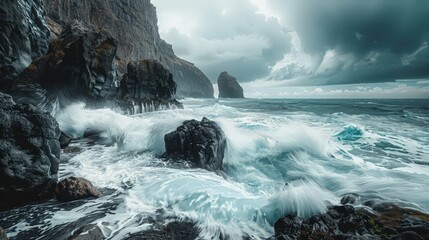
{"type": "Polygon", "coordinates": [[[152,3],[161,37],[212,82],[222,71],[240,82],[289,86],[427,83],[429,77],[427,0],[152,3]]]}

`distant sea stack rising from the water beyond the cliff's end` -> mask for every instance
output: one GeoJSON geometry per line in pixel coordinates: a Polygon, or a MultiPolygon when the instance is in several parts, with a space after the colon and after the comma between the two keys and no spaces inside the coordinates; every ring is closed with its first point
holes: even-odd
{"type": "Polygon", "coordinates": [[[219,98],[244,98],[243,88],[238,84],[237,79],[227,72],[223,72],[217,79],[219,88],[219,98]]]}

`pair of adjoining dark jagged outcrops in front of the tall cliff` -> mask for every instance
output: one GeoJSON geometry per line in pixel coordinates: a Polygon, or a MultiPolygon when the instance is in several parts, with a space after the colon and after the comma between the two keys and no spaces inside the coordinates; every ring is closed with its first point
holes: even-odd
{"type": "Polygon", "coordinates": [[[51,42],[47,55],[35,60],[5,90],[20,102],[38,106],[58,102],[66,106],[81,100],[93,107],[119,106],[130,114],[183,107],[175,100],[173,76],[156,60],[130,62],[128,73],[119,81],[116,46],[108,32],[75,21],[51,42]],[[24,97],[29,94],[34,96],[24,97]]]}

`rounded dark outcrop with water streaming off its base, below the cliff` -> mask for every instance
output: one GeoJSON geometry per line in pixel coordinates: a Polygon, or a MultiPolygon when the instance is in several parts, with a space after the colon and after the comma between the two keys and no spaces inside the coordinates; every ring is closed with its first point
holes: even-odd
{"type": "Polygon", "coordinates": [[[130,62],[121,81],[120,98],[131,103],[132,113],[159,110],[162,107],[183,107],[175,100],[173,75],[158,61],[146,59],[130,62]]]}

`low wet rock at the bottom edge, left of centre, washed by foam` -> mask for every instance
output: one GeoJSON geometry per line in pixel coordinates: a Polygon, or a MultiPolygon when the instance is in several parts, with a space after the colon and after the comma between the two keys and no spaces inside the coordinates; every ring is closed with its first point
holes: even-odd
{"type": "Polygon", "coordinates": [[[174,221],[163,229],[146,230],[131,234],[125,240],[195,240],[198,238],[199,230],[194,223],[174,221]]]}

